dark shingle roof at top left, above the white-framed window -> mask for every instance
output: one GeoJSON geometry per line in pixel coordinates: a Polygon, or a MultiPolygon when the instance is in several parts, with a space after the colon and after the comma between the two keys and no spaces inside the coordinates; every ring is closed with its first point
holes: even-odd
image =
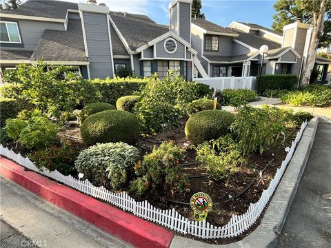
{"type": "Polygon", "coordinates": [[[77,3],[54,0],[28,0],[16,10],[1,10],[1,12],[32,17],[66,19],[68,9],[78,10],[77,3]]]}

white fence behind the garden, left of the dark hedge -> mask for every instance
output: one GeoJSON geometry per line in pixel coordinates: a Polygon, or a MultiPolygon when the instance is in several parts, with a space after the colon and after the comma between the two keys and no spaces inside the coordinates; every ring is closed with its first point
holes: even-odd
{"type": "Polygon", "coordinates": [[[214,90],[224,89],[250,89],[257,90],[256,76],[224,76],[224,77],[209,77],[209,78],[195,78],[193,81],[204,83],[214,88],[214,90]]]}

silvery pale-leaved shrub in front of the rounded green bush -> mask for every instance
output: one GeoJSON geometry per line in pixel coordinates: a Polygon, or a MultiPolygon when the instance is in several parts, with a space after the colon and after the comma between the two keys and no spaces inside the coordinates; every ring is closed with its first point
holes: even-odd
{"type": "Polygon", "coordinates": [[[94,185],[121,189],[139,156],[137,148],[126,143],[97,144],[84,149],[75,161],[78,172],[94,185]]]}

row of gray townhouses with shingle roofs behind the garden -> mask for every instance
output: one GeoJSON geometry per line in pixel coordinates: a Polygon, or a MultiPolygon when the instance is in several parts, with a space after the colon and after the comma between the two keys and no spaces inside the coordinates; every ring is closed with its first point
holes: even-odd
{"type": "MultiPolygon", "coordinates": [[[[113,77],[119,66],[136,76],[168,69],[185,79],[256,76],[261,45],[268,45],[263,74],[297,74],[305,63],[309,26],[292,23],[279,33],[261,25],[232,22],[223,28],[191,19],[192,0],[170,3],[170,23],[159,25],[140,14],[112,12],[104,4],[28,0],[0,13],[1,70],[39,59],[72,65],[85,78],[113,77]]],[[[317,60],[319,79],[330,61],[317,60]]]]}

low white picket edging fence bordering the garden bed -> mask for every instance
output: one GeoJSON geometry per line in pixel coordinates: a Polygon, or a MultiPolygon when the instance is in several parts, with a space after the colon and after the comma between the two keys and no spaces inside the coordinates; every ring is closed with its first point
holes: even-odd
{"type": "Polygon", "coordinates": [[[4,148],[2,145],[0,145],[0,155],[6,156],[7,158],[19,163],[19,165],[31,169],[34,172],[39,172],[40,174],[57,180],[58,182],[68,185],[73,189],[77,189],[80,192],[94,196],[95,198],[105,200],[123,210],[130,211],[135,216],[158,223],[174,231],[179,231],[182,234],[191,234],[199,238],[230,238],[242,234],[255,223],[257,218],[259,218],[265,205],[274,193],[281,176],[283,176],[285,167],[290,162],[294,149],[299,142],[306,125],[307,122],[301,125],[301,129],[297,133],[295,140],[292,141],[292,147],[288,151],[285,160],[281,164],[281,167],[277,169],[276,176],[274,176],[271,180],[268,189],[263,191],[261,198],[257,201],[257,203],[251,203],[245,214],[241,214],[239,216],[232,215],[229,223],[223,227],[210,225],[210,223],[205,220],[188,220],[188,218],[181,216],[181,214],[179,214],[175,209],[161,210],[150,205],[147,200],[137,202],[126,194],[126,192],[121,192],[121,194],[110,192],[104,187],[93,186],[88,180],[78,180],[72,176],[64,176],[63,174],[57,172],[57,170],[50,172],[44,167],[42,170],[39,170],[29,158],[24,158],[21,154],[15,154],[12,150],[4,148]]]}

